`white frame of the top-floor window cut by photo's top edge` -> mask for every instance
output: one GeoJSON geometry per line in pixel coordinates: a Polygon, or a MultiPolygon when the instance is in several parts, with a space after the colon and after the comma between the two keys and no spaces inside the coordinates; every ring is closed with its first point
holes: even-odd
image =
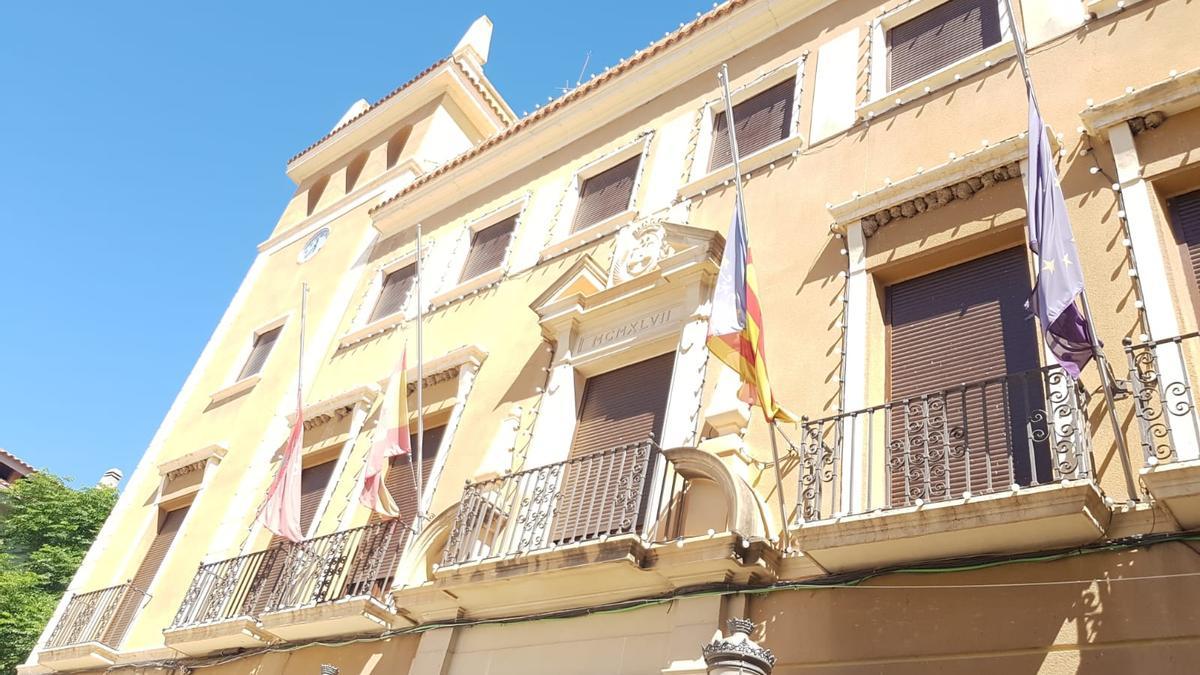
{"type": "Polygon", "coordinates": [[[893,28],[935,10],[949,0],[912,0],[871,22],[868,73],[869,94],[865,102],[858,107],[860,118],[870,119],[889,108],[932,94],[983,72],[994,65],[1016,55],[1016,43],[1013,41],[1013,19],[1008,14],[1004,0],[996,0],[1000,12],[1000,42],[985,47],[974,54],[964,56],[953,64],[943,66],[919,79],[910,82],[899,89],[888,89],[888,31],[893,28]]]}

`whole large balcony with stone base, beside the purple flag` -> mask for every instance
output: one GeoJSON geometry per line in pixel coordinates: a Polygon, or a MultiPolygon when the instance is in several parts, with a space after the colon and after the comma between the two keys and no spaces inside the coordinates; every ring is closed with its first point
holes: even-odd
{"type": "Polygon", "coordinates": [[[804,419],[793,548],[842,572],[1092,540],[1086,404],[1050,366],[804,419]]]}

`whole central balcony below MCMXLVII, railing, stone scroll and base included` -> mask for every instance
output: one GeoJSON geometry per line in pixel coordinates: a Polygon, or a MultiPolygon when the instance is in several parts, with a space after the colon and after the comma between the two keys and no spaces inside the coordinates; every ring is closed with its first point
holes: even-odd
{"type": "Polygon", "coordinates": [[[738,532],[761,527],[731,485],[712,455],[650,441],[468,484],[430,583],[396,603],[416,621],[498,616],[737,578],[738,532]],[[534,596],[512,584],[530,574],[534,596]]]}

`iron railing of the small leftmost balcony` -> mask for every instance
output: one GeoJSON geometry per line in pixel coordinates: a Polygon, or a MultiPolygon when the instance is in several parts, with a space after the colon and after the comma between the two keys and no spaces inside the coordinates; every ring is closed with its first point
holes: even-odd
{"type": "Polygon", "coordinates": [[[73,596],[46,640],[46,649],[86,643],[118,649],[145,597],[132,584],[73,596]]]}

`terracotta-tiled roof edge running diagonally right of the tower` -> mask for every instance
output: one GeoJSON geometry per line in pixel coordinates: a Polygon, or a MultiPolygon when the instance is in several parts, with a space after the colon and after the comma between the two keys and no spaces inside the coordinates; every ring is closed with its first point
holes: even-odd
{"type": "Polygon", "coordinates": [[[466,153],[458,155],[457,157],[455,157],[455,159],[450,160],[449,162],[442,165],[437,169],[434,169],[434,171],[432,171],[432,172],[430,172],[430,173],[427,173],[425,175],[419,177],[416,180],[409,183],[403,190],[401,190],[400,192],[397,192],[392,197],[390,197],[388,199],[384,199],[379,204],[376,204],[374,207],[372,207],[371,213],[374,213],[374,211],[382,209],[383,207],[388,205],[389,203],[395,202],[396,199],[400,199],[404,195],[408,195],[409,192],[416,190],[421,185],[425,185],[426,183],[430,183],[431,180],[436,179],[437,177],[445,174],[450,169],[452,169],[452,168],[455,168],[455,167],[457,167],[457,166],[467,162],[472,157],[476,157],[476,156],[481,155],[488,148],[492,148],[492,147],[499,144],[502,141],[515,136],[522,129],[527,129],[527,127],[534,125],[535,123],[538,123],[539,120],[542,120],[542,119],[545,119],[545,118],[554,114],[556,112],[565,108],[568,104],[570,104],[570,103],[572,103],[575,101],[578,101],[580,98],[583,98],[588,94],[590,94],[590,92],[595,91],[596,89],[604,86],[606,83],[612,82],[613,79],[616,79],[622,73],[625,73],[625,72],[632,70],[634,67],[636,67],[637,65],[642,64],[647,59],[650,59],[652,56],[658,55],[659,53],[664,52],[668,47],[672,47],[676,43],[678,43],[679,41],[689,37],[691,34],[696,32],[697,30],[707,26],[708,24],[710,24],[710,23],[713,23],[713,22],[715,22],[718,19],[721,19],[721,18],[724,18],[724,17],[733,13],[733,10],[736,10],[736,8],[738,8],[738,7],[748,4],[749,1],[750,0],[727,0],[726,2],[719,5],[718,7],[715,7],[713,10],[709,10],[708,12],[706,12],[704,14],[701,14],[700,17],[697,17],[694,20],[691,20],[690,23],[686,23],[686,24],[679,26],[679,29],[677,29],[677,30],[667,34],[661,40],[659,40],[656,42],[653,42],[649,47],[647,47],[644,49],[641,49],[638,52],[635,52],[634,55],[630,56],[629,59],[625,59],[625,60],[620,61],[618,65],[608,68],[607,71],[605,71],[604,73],[594,77],[593,79],[589,79],[587,83],[581,84],[580,86],[576,86],[575,89],[572,89],[571,91],[568,91],[566,94],[563,94],[558,98],[556,98],[556,100],[551,101],[550,103],[542,106],[536,112],[534,112],[534,113],[532,113],[529,115],[526,115],[524,118],[522,118],[516,124],[505,127],[503,131],[500,131],[496,136],[492,136],[491,138],[484,141],[479,145],[475,145],[470,150],[467,150],[466,153]]]}

